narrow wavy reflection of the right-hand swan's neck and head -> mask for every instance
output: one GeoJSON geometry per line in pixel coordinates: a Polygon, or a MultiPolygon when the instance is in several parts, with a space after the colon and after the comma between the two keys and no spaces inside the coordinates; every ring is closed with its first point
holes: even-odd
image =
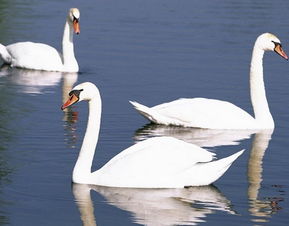
{"type": "MultiPolygon", "coordinates": [[[[273,130],[256,133],[252,140],[252,148],[248,161],[248,199],[249,212],[253,222],[268,222],[271,215],[281,209],[279,203],[283,201],[280,197],[265,197],[260,199],[260,188],[262,183],[263,157],[271,140],[273,130]]],[[[272,185],[275,187],[276,185],[272,185]]],[[[278,187],[277,186],[277,190],[278,187]]],[[[282,191],[277,191],[281,192],[282,191]]]]}

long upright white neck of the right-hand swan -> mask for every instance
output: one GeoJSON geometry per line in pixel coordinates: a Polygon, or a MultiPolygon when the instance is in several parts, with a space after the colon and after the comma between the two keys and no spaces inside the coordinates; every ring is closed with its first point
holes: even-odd
{"type": "Polygon", "coordinates": [[[255,44],[250,67],[251,102],[258,126],[274,128],[274,120],[270,113],[264,85],[263,56],[264,50],[255,44]]]}

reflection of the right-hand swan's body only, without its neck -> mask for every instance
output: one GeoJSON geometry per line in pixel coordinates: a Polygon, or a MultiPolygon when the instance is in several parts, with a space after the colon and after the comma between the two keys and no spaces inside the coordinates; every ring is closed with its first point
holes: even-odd
{"type": "Polygon", "coordinates": [[[212,130],[180,126],[147,124],[134,134],[136,142],[149,137],[171,136],[196,144],[200,147],[238,145],[241,140],[249,139],[254,130],[212,130]]]}

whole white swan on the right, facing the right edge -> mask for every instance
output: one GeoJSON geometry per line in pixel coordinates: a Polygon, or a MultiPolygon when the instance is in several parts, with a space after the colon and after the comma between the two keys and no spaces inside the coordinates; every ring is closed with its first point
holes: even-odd
{"type": "Polygon", "coordinates": [[[274,120],[266,99],[262,65],[264,52],[268,50],[288,60],[275,35],[264,33],[257,38],[250,68],[255,118],[229,102],[206,98],[179,99],[151,108],[133,101],[130,103],[145,118],[157,124],[207,129],[272,129],[274,120]]]}

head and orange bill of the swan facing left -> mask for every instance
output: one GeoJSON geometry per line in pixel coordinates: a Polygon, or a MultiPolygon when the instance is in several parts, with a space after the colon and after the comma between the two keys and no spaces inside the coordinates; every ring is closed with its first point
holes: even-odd
{"type": "Polygon", "coordinates": [[[69,92],[69,98],[68,100],[61,106],[61,110],[64,110],[65,108],[86,100],[90,101],[94,99],[95,97],[99,97],[99,91],[98,88],[91,82],[84,82],[77,86],[75,86],[70,92],[69,92]]]}

